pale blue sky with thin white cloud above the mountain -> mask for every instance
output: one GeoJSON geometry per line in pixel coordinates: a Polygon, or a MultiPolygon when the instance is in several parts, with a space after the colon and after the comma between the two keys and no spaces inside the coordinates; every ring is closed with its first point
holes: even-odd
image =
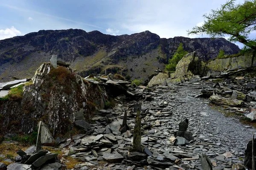
{"type": "Polygon", "coordinates": [[[226,0],[1,0],[0,40],[69,28],[111,35],[148,30],[161,38],[208,37],[188,36],[187,30],[200,25],[203,14],[224,3],[226,0]]]}

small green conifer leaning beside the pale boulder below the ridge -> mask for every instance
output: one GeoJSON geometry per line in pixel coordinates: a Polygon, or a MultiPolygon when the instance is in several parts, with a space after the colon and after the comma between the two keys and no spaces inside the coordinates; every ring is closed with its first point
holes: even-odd
{"type": "Polygon", "coordinates": [[[175,71],[176,65],[186,54],[188,54],[188,52],[183,50],[183,43],[180,43],[175,54],[169,59],[169,64],[165,66],[165,71],[175,71]]]}

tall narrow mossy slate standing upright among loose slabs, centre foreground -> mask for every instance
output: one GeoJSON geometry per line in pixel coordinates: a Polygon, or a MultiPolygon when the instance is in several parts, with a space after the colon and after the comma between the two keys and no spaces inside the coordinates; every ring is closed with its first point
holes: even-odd
{"type": "Polygon", "coordinates": [[[141,150],[141,116],[139,109],[137,109],[137,115],[135,118],[133,148],[141,150]]]}

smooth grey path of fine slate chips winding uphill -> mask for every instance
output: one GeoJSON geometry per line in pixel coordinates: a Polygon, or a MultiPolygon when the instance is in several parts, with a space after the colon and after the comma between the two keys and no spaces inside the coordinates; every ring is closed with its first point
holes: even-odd
{"type": "MultiPolygon", "coordinates": [[[[244,158],[246,144],[256,130],[246,128],[238,120],[225,117],[222,113],[213,110],[208,105],[208,99],[195,98],[195,94],[200,93],[201,86],[204,85],[172,86],[176,89],[174,93],[170,93],[168,89],[158,90],[163,93],[157,93],[155,100],[149,105],[164,105],[164,102],[168,102],[165,107],[171,108],[173,114],[165,117],[165,119],[173,120],[174,124],[171,125],[173,130],[178,130],[179,122],[186,118],[189,119],[188,130],[193,133],[196,142],[186,147],[180,146],[180,150],[206,153],[211,161],[216,162],[218,169],[230,167],[231,161],[233,161],[232,163],[240,163],[239,159],[244,158]],[[232,157],[225,158],[223,154],[226,152],[231,152],[232,157]]],[[[159,130],[162,128],[163,126],[159,130]]],[[[196,168],[201,169],[199,160],[190,161],[189,164],[195,164],[196,168]]]]}

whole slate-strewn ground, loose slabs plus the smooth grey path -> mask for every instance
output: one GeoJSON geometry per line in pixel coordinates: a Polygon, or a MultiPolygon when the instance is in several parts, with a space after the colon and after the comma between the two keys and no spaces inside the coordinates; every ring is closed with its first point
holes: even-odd
{"type": "Polygon", "coordinates": [[[73,136],[67,144],[61,146],[68,145],[65,153],[84,161],[84,164],[77,164],[76,167],[85,169],[201,170],[199,154],[205,153],[212,161],[213,170],[230,170],[232,164],[243,163],[246,144],[256,130],[213,110],[208,99],[195,98],[206,86],[211,85],[199,82],[154,87],[151,91],[137,89],[138,93],[151,96],[151,101],[139,101],[142,104],[141,142],[148,148],[148,155],[136,152],[128,154],[128,150],[132,148],[136,116],[131,108],[137,104],[137,100],[120,101],[113,109],[99,111],[92,118],[95,123],[90,125],[91,130],[86,136],[73,136]],[[129,130],[120,133],[125,108],[129,108],[129,130]],[[148,112],[147,108],[150,108],[148,112]],[[179,123],[185,119],[189,120],[187,131],[192,132],[195,142],[174,145],[173,136],[179,130],[179,123]],[[108,164],[99,166],[96,161],[101,160],[108,161],[108,164]],[[148,162],[149,165],[143,162],[148,162]]]}

